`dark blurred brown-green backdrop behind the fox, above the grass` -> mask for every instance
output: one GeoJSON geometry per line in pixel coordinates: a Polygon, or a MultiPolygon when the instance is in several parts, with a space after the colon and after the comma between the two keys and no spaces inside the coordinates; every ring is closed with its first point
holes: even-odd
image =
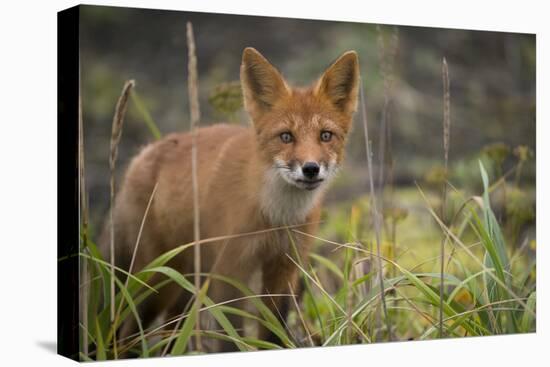
{"type": "MultiPolygon", "coordinates": [[[[527,159],[519,177],[515,177],[516,171],[507,176],[511,187],[497,190],[493,199],[501,219],[520,211],[519,228],[511,230],[513,245],[534,239],[534,35],[82,6],[82,105],[92,228],[102,223],[109,206],[109,138],[124,81],[136,80],[142,107],[162,134],[189,129],[187,21],[195,31],[202,125],[249,123],[238,86],[244,47],[258,49],[297,85],[313,82],[342,52],[356,50],[375,172],[381,166],[386,72],[393,87],[386,120],[391,144],[385,144],[384,181],[386,196],[393,192],[391,206],[408,213],[400,235],[401,245],[407,248],[432,243],[437,251],[438,246],[439,235],[427,230],[435,226],[415,184],[439,195],[443,165],[441,63],[445,57],[451,80],[449,181],[456,187],[450,194],[451,204],[455,196],[480,194],[479,159],[495,181],[517,167],[523,152],[527,159]],[[521,185],[515,185],[516,179],[521,185]]],[[[119,146],[119,182],[129,159],[153,140],[143,110],[132,101],[119,146]]],[[[368,194],[359,114],[347,150],[345,168],[327,197],[327,211],[335,213],[332,218],[338,213],[345,217],[348,204],[368,194]]],[[[325,234],[345,237],[338,232],[339,223],[332,220],[325,234]]]]}

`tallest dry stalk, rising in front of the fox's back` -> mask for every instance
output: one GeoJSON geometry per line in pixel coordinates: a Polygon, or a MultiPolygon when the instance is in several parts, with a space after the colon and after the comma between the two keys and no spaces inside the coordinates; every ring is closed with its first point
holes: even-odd
{"type": "MultiPolygon", "coordinates": [[[[195,37],[193,35],[193,25],[187,22],[187,50],[188,50],[188,81],[189,90],[189,107],[191,110],[191,176],[193,182],[193,236],[196,246],[194,246],[194,268],[195,268],[195,290],[198,294],[200,290],[200,273],[201,273],[201,248],[200,248],[200,206],[199,206],[199,184],[197,178],[197,125],[200,121],[199,108],[199,82],[197,73],[197,54],[195,51],[195,37]]],[[[198,299],[198,298],[197,298],[198,299]]],[[[196,324],[196,342],[197,350],[202,350],[200,337],[200,314],[197,315],[196,324]]]]}

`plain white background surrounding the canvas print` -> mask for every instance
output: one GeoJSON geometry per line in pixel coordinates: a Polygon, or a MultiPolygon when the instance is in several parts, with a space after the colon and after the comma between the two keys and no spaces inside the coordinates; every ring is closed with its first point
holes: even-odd
{"type": "MultiPolygon", "coordinates": [[[[106,362],[105,366],[523,366],[548,363],[550,26],[543,1],[121,0],[218,13],[537,33],[537,334],[106,362]],[[371,4],[369,4],[371,3],[371,4]]],[[[69,365],[56,339],[56,12],[74,1],[0,5],[0,365],[69,365]]]]}

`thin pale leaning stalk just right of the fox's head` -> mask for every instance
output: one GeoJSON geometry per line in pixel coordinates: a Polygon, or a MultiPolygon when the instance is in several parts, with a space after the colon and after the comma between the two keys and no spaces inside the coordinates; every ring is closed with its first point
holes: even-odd
{"type": "Polygon", "coordinates": [[[391,340],[391,324],[390,319],[388,318],[388,310],[386,308],[386,296],[384,291],[384,268],[382,267],[381,260],[381,213],[377,209],[376,205],[376,193],[374,191],[374,179],[373,179],[373,170],[372,170],[372,150],[369,139],[369,129],[368,129],[368,120],[367,120],[367,107],[365,102],[365,93],[363,91],[363,81],[359,82],[359,92],[360,92],[360,103],[361,103],[361,115],[363,118],[363,130],[365,134],[365,147],[367,152],[367,168],[369,171],[369,186],[370,186],[370,196],[371,196],[371,211],[374,221],[374,233],[376,237],[376,258],[378,263],[378,278],[380,282],[380,300],[382,302],[382,311],[384,313],[384,318],[386,320],[386,327],[388,329],[388,339],[391,340]]]}

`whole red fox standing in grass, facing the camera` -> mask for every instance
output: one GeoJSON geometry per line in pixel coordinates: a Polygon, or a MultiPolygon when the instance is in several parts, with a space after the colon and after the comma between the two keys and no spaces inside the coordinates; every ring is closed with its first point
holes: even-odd
{"type": "MultiPolygon", "coordinates": [[[[354,51],[341,55],[312,86],[293,88],[258,51],[246,48],[241,85],[252,126],[217,124],[197,132],[200,237],[299,224],[304,224],[301,231],[315,233],[324,193],[344,157],[359,83],[354,51]]],[[[191,141],[189,133],[170,134],[146,146],[131,161],[114,207],[118,266],[129,267],[155,185],[134,269],[193,241],[191,141]]],[[[295,237],[301,259],[307,260],[311,238],[295,237]]],[[[108,243],[103,241],[105,253],[108,243]]],[[[298,280],[299,269],[287,256],[292,253],[286,229],[233,237],[201,246],[201,271],[246,284],[259,270],[262,293],[288,293],[298,280]]],[[[182,253],[169,266],[182,274],[193,273],[193,251],[182,253]]],[[[215,280],[208,294],[215,302],[243,296],[215,280]]],[[[190,294],[176,285],[162,288],[140,306],[144,326],[159,315],[181,314],[189,299],[190,294]]],[[[273,297],[265,303],[275,315],[286,317],[287,297],[273,297]]],[[[243,307],[242,301],[231,305],[243,307]]],[[[235,329],[242,329],[241,318],[228,318],[235,329]]],[[[123,334],[132,332],[135,325],[128,322],[123,334]]],[[[260,328],[259,338],[280,343],[267,329],[260,328]]],[[[224,342],[215,349],[234,347],[224,342]]]]}

